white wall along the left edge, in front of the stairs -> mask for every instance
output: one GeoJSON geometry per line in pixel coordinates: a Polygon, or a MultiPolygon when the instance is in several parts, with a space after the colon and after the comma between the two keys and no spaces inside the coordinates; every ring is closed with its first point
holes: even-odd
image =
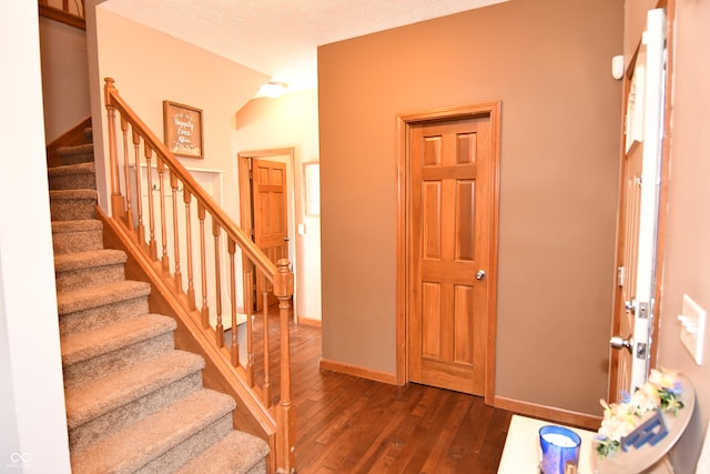
{"type": "Polygon", "coordinates": [[[0,471],[67,474],[71,465],[47,199],[38,23],[37,3],[3,4],[0,471]]]}

